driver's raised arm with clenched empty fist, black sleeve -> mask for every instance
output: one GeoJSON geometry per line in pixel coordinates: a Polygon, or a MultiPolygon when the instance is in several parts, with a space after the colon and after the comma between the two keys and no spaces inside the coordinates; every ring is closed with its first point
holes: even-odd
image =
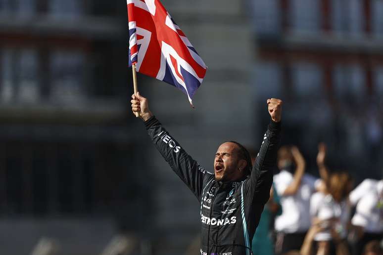
{"type": "Polygon", "coordinates": [[[282,100],[268,99],[268,111],[271,122],[263,137],[263,142],[255,160],[250,178],[246,183],[246,190],[253,201],[265,204],[270,196],[273,182],[273,169],[277,162],[277,151],[281,134],[282,100]]]}

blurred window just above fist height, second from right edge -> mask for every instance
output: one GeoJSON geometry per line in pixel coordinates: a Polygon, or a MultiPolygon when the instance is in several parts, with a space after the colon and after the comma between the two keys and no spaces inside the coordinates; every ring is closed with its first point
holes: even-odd
{"type": "Polygon", "coordinates": [[[358,65],[336,65],[333,72],[335,93],[338,96],[363,98],[366,94],[366,76],[358,65]]]}

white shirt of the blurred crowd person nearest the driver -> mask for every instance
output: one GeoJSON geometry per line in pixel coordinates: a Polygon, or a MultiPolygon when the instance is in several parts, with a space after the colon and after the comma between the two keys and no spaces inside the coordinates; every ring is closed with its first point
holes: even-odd
{"type": "Polygon", "coordinates": [[[304,174],[297,192],[294,195],[284,196],[283,193],[293,178],[293,174],[287,170],[281,170],[274,175],[275,188],[282,205],[282,214],[275,219],[275,229],[278,232],[305,232],[311,226],[310,197],[320,185],[320,180],[310,174],[304,174]]]}

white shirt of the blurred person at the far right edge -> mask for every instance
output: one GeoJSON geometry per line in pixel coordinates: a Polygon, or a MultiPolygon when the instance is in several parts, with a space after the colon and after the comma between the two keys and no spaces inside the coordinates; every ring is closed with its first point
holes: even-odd
{"type": "Polygon", "coordinates": [[[349,195],[356,212],[351,223],[368,233],[383,232],[383,180],[366,179],[349,195]]]}

